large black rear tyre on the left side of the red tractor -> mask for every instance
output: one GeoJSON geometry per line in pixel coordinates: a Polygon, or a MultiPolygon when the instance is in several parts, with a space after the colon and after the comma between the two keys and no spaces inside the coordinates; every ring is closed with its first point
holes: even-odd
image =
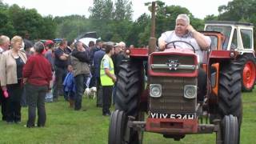
{"type": "Polygon", "coordinates": [[[127,61],[120,66],[118,74],[115,109],[138,118],[138,102],[143,88],[142,62],[127,61]]]}

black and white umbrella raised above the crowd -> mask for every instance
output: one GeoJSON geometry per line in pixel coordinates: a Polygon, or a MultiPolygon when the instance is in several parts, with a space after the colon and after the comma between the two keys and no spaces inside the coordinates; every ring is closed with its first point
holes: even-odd
{"type": "Polygon", "coordinates": [[[78,36],[78,38],[75,38],[74,42],[82,42],[83,45],[85,45],[86,47],[89,47],[89,42],[93,41],[94,43],[96,43],[97,39],[101,39],[101,38],[97,38],[97,34],[95,31],[93,32],[87,32],[85,34],[81,34],[78,36]]]}

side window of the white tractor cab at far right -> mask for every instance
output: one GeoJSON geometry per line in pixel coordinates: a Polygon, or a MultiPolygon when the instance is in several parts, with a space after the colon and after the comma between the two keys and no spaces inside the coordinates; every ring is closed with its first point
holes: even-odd
{"type": "Polygon", "coordinates": [[[252,48],[252,31],[241,29],[241,37],[242,37],[242,44],[244,49],[251,49],[252,48]]]}

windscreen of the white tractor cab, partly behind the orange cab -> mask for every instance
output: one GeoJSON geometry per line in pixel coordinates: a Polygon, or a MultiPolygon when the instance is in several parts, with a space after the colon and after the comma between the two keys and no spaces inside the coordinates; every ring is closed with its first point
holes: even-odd
{"type": "Polygon", "coordinates": [[[223,50],[227,49],[227,46],[229,44],[230,40],[230,33],[231,33],[232,27],[231,26],[206,26],[206,31],[218,31],[221,32],[225,37],[222,48],[223,50]]]}

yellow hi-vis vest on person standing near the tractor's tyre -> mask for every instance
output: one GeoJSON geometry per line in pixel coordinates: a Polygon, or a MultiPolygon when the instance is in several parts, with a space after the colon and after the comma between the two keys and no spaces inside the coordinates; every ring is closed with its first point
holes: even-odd
{"type": "MultiPolygon", "coordinates": [[[[110,67],[109,67],[110,74],[114,74],[114,64],[113,64],[112,59],[107,54],[105,54],[104,57],[102,58],[102,62],[105,59],[106,59],[106,61],[110,62],[110,67]]],[[[102,62],[101,62],[101,71],[100,71],[100,74],[101,74],[100,78],[101,78],[102,86],[113,86],[114,82],[112,81],[112,79],[110,77],[108,77],[105,74],[105,70],[103,68],[103,63],[102,62]]]]}

